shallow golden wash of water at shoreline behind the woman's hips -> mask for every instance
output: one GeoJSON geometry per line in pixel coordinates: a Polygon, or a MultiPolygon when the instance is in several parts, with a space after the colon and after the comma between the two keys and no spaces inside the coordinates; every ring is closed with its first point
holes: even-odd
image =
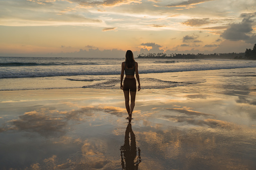
{"type": "MultiPolygon", "coordinates": [[[[219,70],[165,72],[165,73],[144,73],[140,74],[142,89],[162,89],[178,86],[190,86],[203,83],[207,77],[228,76],[241,78],[255,77],[254,68],[235,68],[219,70]]],[[[39,90],[39,89],[119,89],[119,75],[103,76],[53,76],[35,78],[5,78],[0,83],[0,91],[13,90],[39,90]],[[70,79],[72,81],[70,81],[70,79]],[[93,81],[92,81],[93,80],[93,81]],[[107,84],[106,84],[107,83],[107,84]],[[86,87],[86,88],[83,88],[86,87]]]]}

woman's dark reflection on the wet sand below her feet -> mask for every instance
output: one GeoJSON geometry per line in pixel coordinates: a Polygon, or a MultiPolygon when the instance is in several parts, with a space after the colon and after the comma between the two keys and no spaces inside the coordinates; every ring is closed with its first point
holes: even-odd
{"type": "Polygon", "coordinates": [[[132,131],[131,123],[128,123],[125,137],[124,145],[120,147],[121,150],[121,164],[123,169],[138,169],[139,163],[141,162],[140,157],[140,148],[138,147],[138,156],[137,156],[137,147],[135,141],[135,134],[132,131]],[[129,140],[129,134],[131,142],[129,140]]]}

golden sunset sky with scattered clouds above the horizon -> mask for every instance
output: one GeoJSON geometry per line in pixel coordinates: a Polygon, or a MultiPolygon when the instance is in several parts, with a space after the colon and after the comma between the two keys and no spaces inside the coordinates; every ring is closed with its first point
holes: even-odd
{"type": "Polygon", "coordinates": [[[0,0],[0,56],[239,53],[255,0],[0,0]]]}

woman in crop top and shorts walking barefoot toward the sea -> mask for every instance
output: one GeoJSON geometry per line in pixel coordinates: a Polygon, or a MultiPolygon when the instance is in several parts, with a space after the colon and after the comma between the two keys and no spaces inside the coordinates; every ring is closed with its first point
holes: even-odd
{"type": "Polygon", "coordinates": [[[135,106],[135,96],[136,96],[136,80],[134,77],[134,73],[136,73],[136,78],[138,81],[138,91],[140,90],[140,82],[139,82],[139,73],[138,73],[138,63],[135,62],[133,58],[133,54],[131,50],[127,50],[125,54],[125,62],[122,63],[121,70],[121,85],[120,88],[124,91],[125,98],[125,107],[129,115],[129,122],[132,119],[132,111],[135,106]],[[125,72],[125,79],[123,85],[123,78],[125,72]],[[129,92],[131,94],[131,105],[129,105],[129,92]]]}

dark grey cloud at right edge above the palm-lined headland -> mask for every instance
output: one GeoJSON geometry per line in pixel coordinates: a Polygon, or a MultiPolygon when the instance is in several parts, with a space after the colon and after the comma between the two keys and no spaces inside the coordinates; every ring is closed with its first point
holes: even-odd
{"type": "Polygon", "coordinates": [[[256,13],[241,14],[243,20],[241,23],[233,23],[229,25],[222,34],[226,40],[239,41],[243,40],[246,43],[254,44],[256,42],[256,34],[253,33],[252,26],[255,24],[253,18],[256,17],[256,13]]]}

